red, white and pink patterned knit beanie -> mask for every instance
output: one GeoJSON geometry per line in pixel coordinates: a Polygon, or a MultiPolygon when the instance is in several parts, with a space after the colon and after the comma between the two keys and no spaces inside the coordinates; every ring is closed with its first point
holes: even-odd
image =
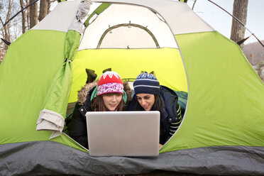
{"type": "Polygon", "coordinates": [[[104,72],[99,79],[97,96],[107,93],[121,93],[123,95],[123,81],[117,72],[104,72]]]}

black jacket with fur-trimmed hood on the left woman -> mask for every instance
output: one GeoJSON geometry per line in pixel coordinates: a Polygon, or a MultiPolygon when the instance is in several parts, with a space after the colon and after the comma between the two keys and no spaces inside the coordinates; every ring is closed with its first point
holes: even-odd
{"type": "MultiPolygon", "coordinates": [[[[72,116],[65,119],[65,132],[85,148],[88,148],[85,114],[87,111],[92,111],[90,99],[96,85],[97,82],[92,82],[82,87],[82,89],[78,92],[78,101],[75,104],[72,116]]],[[[128,87],[126,82],[123,83],[123,87],[128,96],[128,100],[126,102],[126,104],[128,104],[128,102],[131,101],[131,98],[129,99],[129,97],[131,97],[131,89],[128,87]]]]}

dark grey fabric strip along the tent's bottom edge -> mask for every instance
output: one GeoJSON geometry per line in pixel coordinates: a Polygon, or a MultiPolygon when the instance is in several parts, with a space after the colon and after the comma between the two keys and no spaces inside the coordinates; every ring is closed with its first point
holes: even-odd
{"type": "Polygon", "coordinates": [[[264,174],[263,147],[214,146],[129,158],[91,157],[53,141],[33,141],[0,145],[0,154],[1,175],[134,175],[155,170],[199,175],[264,174]],[[35,157],[28,157],[31,155],[35,157]]]}

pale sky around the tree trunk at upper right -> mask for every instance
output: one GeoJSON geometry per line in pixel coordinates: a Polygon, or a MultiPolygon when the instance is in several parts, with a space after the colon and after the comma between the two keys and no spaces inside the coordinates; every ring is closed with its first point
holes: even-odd
{"type": "MultiPolygon", "coordinates": [[[[229,13],[233,13],[233,0],[211,0],[224,8],[229,13]]],[[[192,8],[193,0],[188,1],[192,8]]],[[[219,33],[230,38],[232,17],[228,13],[207,0],[197,0],[194,5],[194,12],[204,21],[209,23],[219,33]]],[[[264,0],[248,0],[248,16],[246,27],[254,33],[257,38],[264,40],[264,0]]],[[[246,30],[245,38],[251,35],[246,30]]],[[[253,36],[246,40],[245,44],[258,42],[253,36]]]]}

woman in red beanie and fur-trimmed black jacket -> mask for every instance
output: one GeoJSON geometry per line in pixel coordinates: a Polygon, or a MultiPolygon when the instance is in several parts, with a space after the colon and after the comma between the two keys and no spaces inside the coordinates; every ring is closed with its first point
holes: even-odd
{"type": "Polygon", "coordinates": [[[66,120],[65,132],[88,148],[87,111],[122,111],[131,97],[131,89],[116,72],[104,72],[98,83],[86,84],[78,93],[78,102],[71,117],[66,120]]]}

